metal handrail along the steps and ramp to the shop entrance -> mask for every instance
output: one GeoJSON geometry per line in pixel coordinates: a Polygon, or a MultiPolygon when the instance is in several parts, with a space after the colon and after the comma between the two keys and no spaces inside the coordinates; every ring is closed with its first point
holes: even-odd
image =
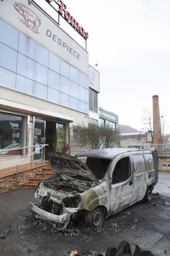
{"type": "MultiPolygon", "coordinates": [[[[32,155],[38,155],[38,154],[41,154],[41,158],[38,159],[38,160],[34,160],[34,161],[30,161],[30,162],[27,162],[27,163],[33,163],[33,162],[37,162],[37,161],[41,161],[41,164],[43,163],[43,153],[45,153],[45,151],[43,152],[43,148],[45,146],[48,146],[48,144],[40,144],[40,145],[34,145],[34,146],[29,146],[29,147],[20,147],[20,148],[13,148],[13,149],[9,149],[9,150],[1,150],[0,152],[8,152],[8,151],[13,151],[13,150],[21,150],[21,149],[25,149],[25,148],[32,148],[32,147],[35,147],[35,151],[33,151],[31,154],[27,155],[27,156],[20,156],[20,157],[24,157],[24,159],[22,159],[20,162],[18,162],[15,166],[16,166],[16,190],[18,189],[18,167],[19,167],[19,164],[23,161],[25,161],[27,158],[31,157],[32,155]],[[37,149],[36,149],[37,148],[37,149]],[[37,151],[40,151],[40,153],[36,153],[37,151]],[[36,154],[35,154],[36,153],[36,154]]],[[[6,157],[6,155],[1,155],[2,157],[6,157]]],[[[14,158],[10,158],[10,159],[16,159],[16,158],[20,158],[20,157],[14,157],[14,158]]],[[[0,162],[2,161],[7,161],[9,159],[3,159],[3,160],[0,160],[0,162]]],[[[10,166],[10,167],[15,167],[15,166],[10,166]]],[[[9,167],[8,167],[9,168],[9,167]]],[[[6,169],[6,168],[3,168],[3,169],[6,169]]],[[[3,169],[0,169],[0,170],[3,170],[3,169]]]]}

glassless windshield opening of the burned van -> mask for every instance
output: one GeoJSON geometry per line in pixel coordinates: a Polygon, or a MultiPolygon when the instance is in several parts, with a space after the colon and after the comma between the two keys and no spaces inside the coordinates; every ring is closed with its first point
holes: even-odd
{"type": "Polygon", "coordinates": [[[95,174],[98,180],[101,180],[104,178],[111,161],[112,159],[107,158],[88,157],[86,165],[95,174]]]}

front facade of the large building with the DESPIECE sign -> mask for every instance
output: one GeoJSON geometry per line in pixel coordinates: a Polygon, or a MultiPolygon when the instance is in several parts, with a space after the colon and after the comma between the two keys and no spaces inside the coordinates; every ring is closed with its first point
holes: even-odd
{"type": "Polygon", "coordinates": [[[34,1],[0,1],[0,167],[32,151],[21,147],[63,152],[88,97],[88,52],[34,1]]]}

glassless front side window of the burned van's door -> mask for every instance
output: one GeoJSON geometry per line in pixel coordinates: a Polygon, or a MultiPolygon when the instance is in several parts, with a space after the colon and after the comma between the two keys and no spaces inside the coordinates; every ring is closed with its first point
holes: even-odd
{"type": "Polygon", "coordinates": [[[123,182],[130,177],[131,167],[129,157],[124,157],[120,159],[114,168],[112,174],[112,184],[123,182]]]}

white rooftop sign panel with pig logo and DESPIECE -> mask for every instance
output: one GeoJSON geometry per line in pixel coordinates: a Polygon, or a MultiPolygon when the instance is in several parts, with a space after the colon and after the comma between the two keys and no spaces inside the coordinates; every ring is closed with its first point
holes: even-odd
{"type": "MultiPolygon", "coordinates": [[[[41,1],[44,8],[48,7],[45,0],[41,1]]],[[[88,76],[87,51],[52,21],[35,1],[0,0],[0,19],[88,76]]]]}

